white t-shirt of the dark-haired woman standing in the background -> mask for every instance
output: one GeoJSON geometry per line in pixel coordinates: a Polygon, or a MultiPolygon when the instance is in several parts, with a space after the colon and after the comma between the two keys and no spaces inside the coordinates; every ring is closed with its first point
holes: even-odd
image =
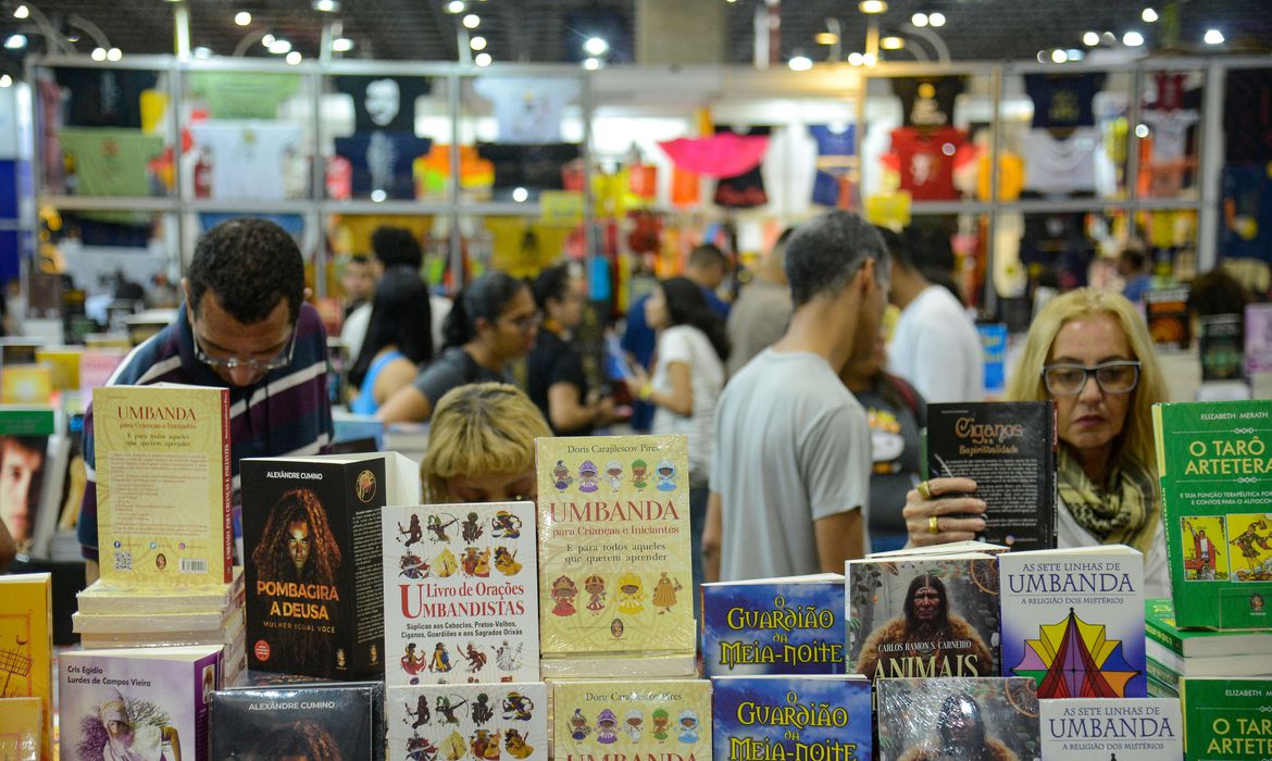
{"type": "Polygon", "coordinates": [[[706,485],[711,476],[715,452],[715,410],[724,388],[724,363],[706,333],[691,325],[665,328],[658,336],[658,365],[650,383],[659,393],[672,392],[668,367],[672,363],[689,367],[689,388],[693,392],[693,414],[677,415],[659,406],[654,411],[655,434],[687,434],[689,436],[689,481],[706,485]]]}

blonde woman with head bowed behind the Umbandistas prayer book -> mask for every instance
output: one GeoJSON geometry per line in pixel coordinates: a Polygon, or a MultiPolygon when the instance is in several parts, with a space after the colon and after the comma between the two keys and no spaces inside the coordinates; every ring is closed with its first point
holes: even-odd
{"type": "Polygon", "coordinates": [[[473,383],[446,392],[420,463],[425,501],[534,501],[534,439],[551,435],[543,414],[515,386],[473,383]]]}

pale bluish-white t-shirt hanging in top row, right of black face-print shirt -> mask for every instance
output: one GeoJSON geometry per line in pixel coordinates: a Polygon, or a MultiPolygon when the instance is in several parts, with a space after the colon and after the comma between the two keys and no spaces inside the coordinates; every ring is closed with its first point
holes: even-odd
{"type": "Polygon", "coordinates": [[[494,104],[500,143],[560,143],[561,111],[579,97],[579,81],[482,76],[473,90],[494,104]]]}

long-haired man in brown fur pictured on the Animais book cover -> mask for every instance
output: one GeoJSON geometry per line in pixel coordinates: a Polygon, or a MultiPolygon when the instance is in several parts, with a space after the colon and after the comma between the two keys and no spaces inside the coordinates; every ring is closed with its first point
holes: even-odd
{"type": "Polygon", "coordinates": [[[921,574],[906,589],[902,615],[866,638],[856,673],[878,677],[995,676],[993,655],[965,618],[950,610],[937,576],[921,574]]]}

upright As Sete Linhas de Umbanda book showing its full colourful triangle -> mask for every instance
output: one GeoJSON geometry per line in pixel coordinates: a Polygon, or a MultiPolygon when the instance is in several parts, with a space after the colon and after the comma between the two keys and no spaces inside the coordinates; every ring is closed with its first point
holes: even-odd
{"type": "Polygon", "coordinates": [[[1038,697],[1144,697],[1144,557],[1123,545],[999,556],[1002,674],[1038,697]]]}

